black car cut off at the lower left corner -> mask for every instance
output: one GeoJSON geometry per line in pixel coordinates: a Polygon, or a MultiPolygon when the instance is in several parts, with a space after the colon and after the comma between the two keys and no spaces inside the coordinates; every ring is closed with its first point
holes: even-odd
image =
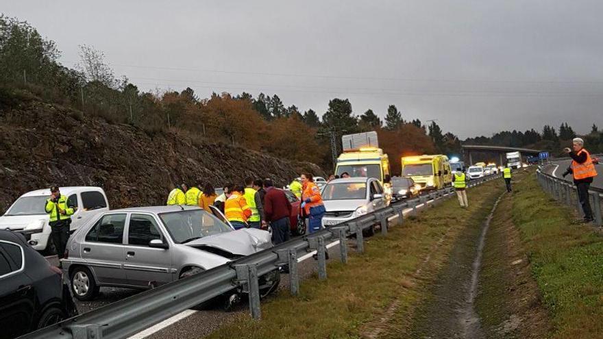
{"type": "Polygon", "coordinates": [[[76,314],[61,270],[21,234],[0,230],[0,338],[15,338],[76,314]]]}

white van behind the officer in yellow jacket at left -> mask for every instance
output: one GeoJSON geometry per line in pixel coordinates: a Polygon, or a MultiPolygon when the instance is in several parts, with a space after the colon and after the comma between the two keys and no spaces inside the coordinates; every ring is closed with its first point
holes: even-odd
{"type": "MultiPolygon", "coordinates": [[[[67,197],[67,205],[77,207],[71,216],[71,233],[88,218],[109,210],[107,196],[102,188],[60,187],[60,191],[67,197]]],[[[3,216],[0,216],[0,229],[12,229],[23,234],[36,251],[54,252],[54,244],[49,241],[49,215],[45,211],[46,200],[49,197],[49,188],[23,194],[3,216]]]]}

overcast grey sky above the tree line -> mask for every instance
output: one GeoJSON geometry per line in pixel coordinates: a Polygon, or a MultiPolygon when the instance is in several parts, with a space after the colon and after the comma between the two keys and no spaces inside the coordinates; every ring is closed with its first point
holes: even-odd
{"type": "Polygon", "coordinates": [[[388,105],[461,138],[603,127],[603,1],[9,1],[73,66],[106,54],[145,90],[254,97],[319,115],[388,105]]]}

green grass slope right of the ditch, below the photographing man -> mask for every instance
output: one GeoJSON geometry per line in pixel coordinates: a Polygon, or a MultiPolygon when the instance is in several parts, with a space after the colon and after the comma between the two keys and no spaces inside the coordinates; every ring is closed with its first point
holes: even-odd
{"type": "Polygon", "coordinates": [[[572,225],[573,213],[534,176],[513,197],[513,223],[547,309],[552,338],[603,338],[603,236],[572,225]]]}

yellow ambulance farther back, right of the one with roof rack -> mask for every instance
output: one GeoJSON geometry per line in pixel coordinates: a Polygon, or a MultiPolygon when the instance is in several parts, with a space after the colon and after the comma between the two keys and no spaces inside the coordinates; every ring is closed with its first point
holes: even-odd
{"type": "Polygon", "coordinates": [[[446,155],[402,157],[402,177],[410,177],[421,190],[439,190],[452,185],[452,168],[446,155]]]}

